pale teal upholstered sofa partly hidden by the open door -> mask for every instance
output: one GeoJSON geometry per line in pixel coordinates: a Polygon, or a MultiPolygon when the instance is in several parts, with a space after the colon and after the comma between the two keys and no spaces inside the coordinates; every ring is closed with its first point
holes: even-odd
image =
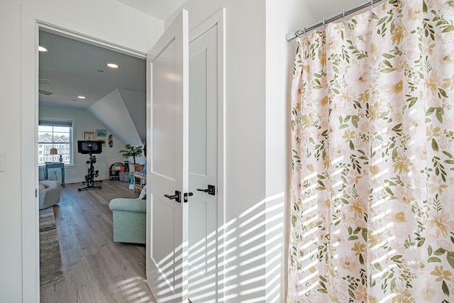
{"type": "Polygon", "coordinates": [[[113,214],[114,242],[146,243],[147,200],[111,199],[109,208],[113,214]]]}

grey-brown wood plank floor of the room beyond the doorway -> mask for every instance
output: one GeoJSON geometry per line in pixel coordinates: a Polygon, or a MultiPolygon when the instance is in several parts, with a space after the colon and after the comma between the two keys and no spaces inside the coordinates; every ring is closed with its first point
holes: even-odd
{"type": "Polygon", "coordinates": [[[65,280],[42,288],[40,302],[155,302],[145,281],[145,246],[112,241],[109,201],[139,193],[120,181],[78,187],[62,187],[54,206],[65,280]]]}

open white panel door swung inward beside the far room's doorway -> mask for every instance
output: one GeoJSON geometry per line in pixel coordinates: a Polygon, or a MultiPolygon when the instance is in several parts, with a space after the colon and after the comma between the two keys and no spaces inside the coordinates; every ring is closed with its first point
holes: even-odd
{"type": "Polygon", "coordinates": [[[147,282],[157,302],[187,302],[188,14],[147,58],[147,282]]]}

